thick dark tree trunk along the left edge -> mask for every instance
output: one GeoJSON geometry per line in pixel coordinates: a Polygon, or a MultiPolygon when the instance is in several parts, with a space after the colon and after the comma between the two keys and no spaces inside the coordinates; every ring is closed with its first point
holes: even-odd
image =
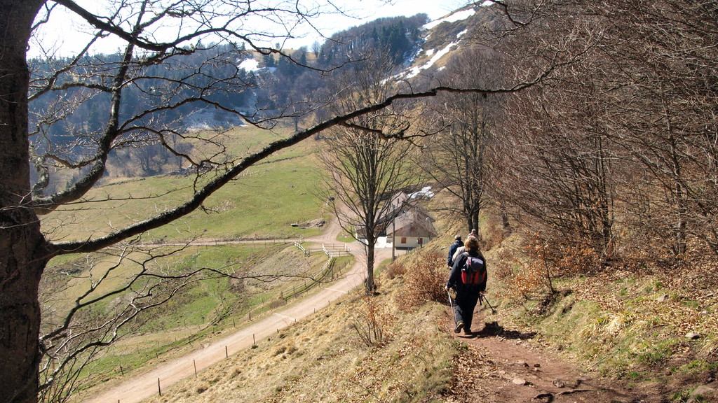
{"type": "Polygon", "coordinates": [[[45,1],[0,0],[0,402],[37,402],[39,280],[49,259],[30,197],[26,49],[45,1]]]}

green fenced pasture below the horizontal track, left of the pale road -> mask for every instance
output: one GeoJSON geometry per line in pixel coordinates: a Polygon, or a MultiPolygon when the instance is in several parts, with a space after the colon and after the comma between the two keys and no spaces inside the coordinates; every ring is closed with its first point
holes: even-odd
{"type": "MultiPolygon", "coordinates": [[[[79,293],[88,288],[90,280],[97,278],[90,275],[91,271],[99,271],[109,265],[109,262],[98,260],[94,267],[74,275],[68,276],[63,272],[70,265],[85,259],[84,256],[77,257],[76,260],[50,267],[48,282],[42,293],[42,303],[52,307],[43,318],[45,328],[57,323],[79,293]]],[[[268,247],[218,245],[188,247],[162,260],[161,264],[165,267],[216,267],[220,262],[224,266],[227,260],[237,262],[236,276],[248,277],[244,280],[215,277],[190,283],[168,303],[146,311],[139,316],[136,324],[123,328],[118,343],[104,350],[93,364],[84,369],[83,389],[131,374],[136,369],[144,369],[168,357],[185,354],[197,343],[222,337],[250,323],[251,319],[265,316],[271,309],[314,292],[316,283],[309,278],[321,278],[319,273],[327,257],[323,254],[304,257],[296,247],[287,244],[268,247]],[[261,277],[273,273],[281,277],[274,280],[261,277]]],[[[351,257],[337,260],[332,272],[326,273],[324,281],[330,279],[332,273],[344,272],[350,262],[351,257]]],[[[126,278],[136,270],[135,265],[126,262],[113,272],[112,278],[98,293],[126,282],[126,278]]],[[[83,300],[98,293],[90,294],[83,300]]],[[[123,295],[96,303],[91,312],[112,316],[114,310],[122,306],[123,295]]],[[[81,316],[84,317],[85,314],[81,316]]]]}

